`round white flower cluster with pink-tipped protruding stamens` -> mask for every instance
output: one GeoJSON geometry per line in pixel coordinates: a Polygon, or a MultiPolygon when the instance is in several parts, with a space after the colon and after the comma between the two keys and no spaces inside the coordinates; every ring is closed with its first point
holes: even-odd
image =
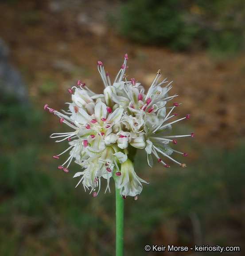
{"type": "MultiPolygon", "coordinates": [[[[49,109],[49,112],[58,116],[61,123],[73,129],[72,132],[51,135],[51,138],[61,138],[56,142],[68,140],[70,145],[64,152],[54,156],[58,159],[60,155],[70,151],[68,159],[58,168],[68,172],[71,161],[75,159],[84,170],[77,172],[74,177],[82,176],[78,184],[82,182],[85,190],[90,189],[93,196],[97,196],[100,190],[101,177],[107,180],[106,190],[110,190],[109,180],[113,176],[116,187],[120,188],[124,198],[137,197],[142,191],[141,182],[146,181],[136,175],[129,148],[145,149],[151,167],[152,154],[165,167],[169,165],[159,155],[185,167],[185,164],[171,158],[172,152],[178,151],[169,144],[176,144],[177,137],[194,136],[193,133],[166,136],[171,131],[171,124],[189,119],[190,115],[169,121],[178,115],[173,110],[179,105],[175,102],[168,113],[166,112],[167,101],[176,96],[168,96],[171,83],[162,87],[167,81],[158,82],[161,76],[159,70],[148,92],[145,92],[144,87],[134,78],[127,80],[124,74],[128,68],[127,60],[128,55],[125,54],[124,64],[113,84],[109,74],[105,73],[102,62],[98,61],[98,71],[105,85],[103,94],[92,92],[79,80],[78,87],[68,89],[70,93],[74,90],[68,112],[61,113],[49,108],[47,104],[44,106],[44,109],[49,109]]],[[[178,153],[187,156],[187,153],[178,153]]]]}

